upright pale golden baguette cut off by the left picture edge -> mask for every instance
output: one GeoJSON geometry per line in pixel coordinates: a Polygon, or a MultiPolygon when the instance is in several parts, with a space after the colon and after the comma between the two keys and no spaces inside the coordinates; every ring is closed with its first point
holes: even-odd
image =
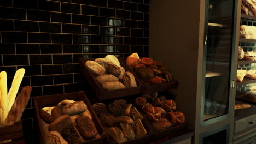
{"type": "Polygon", "coordinates": [[[0,73],[0,125],[8,116],[8,95],[7,95],[7,74],[5,71],[0,73]]]}

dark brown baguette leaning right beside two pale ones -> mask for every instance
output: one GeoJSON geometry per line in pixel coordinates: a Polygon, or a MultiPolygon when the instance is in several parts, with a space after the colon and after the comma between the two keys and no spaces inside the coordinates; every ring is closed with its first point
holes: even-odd
{"type": "Polygon", "coordinates": [[[30,99],[30,94],[32,91],[31,86],[26,86],[22,88],[21,92],[15,99],[15,103],[8,114],[7,119],[4,122],[4,126],[13,125],[14,123],[20,121],[22,113],[24,112],[28,100],[30,99]]]}

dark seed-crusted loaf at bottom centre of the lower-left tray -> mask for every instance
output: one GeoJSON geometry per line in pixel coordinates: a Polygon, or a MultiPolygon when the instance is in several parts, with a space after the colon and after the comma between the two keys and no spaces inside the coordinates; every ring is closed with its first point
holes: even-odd
{"type": "Polygon", "coordinates": [[[82,136],[79,134],[73,123],[66,125],[60,134],[69,144],[84,142],[82,136]]]}

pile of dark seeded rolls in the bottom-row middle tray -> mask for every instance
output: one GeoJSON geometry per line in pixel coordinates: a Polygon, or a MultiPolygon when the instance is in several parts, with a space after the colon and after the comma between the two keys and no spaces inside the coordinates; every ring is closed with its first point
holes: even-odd
{"type": "Polygon", "coordinates": [[[114,143],[123,143],[147,134],[142,124],[143,116],[125,100],[115,100],[108,106],[96,103],[92,107],[114,143]]]}

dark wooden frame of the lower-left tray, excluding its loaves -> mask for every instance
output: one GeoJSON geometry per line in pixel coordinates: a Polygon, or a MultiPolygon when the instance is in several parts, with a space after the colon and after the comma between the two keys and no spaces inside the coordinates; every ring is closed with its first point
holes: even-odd
{"type": "Polygon", "coordinates": [[[37,121],[37,128],[40,135],[40,141],[42,142],[44,139],[44,131],[43,131],[43,120],[40,118],[39,110],[43,107],[49,107],[49,106],[57,106],[60,101],[69,99],[69,100],[75,100],[75,101],[84,101],[84,103],[87,105],[88,110],[91,113],[92,121],[94,121],[95,127],[98,130],[98,133],[101,135],[98,139],[93,140],[86,140],[83,144],[97,144],[97,143],[104,143],[106,141],[106,134],[103,131],[103,127],[100,123],[100,120],[98,119],[96,113],[92,110],[91,104],[84,94],[83,91],[74,92],[74,93],[65,93],[65,94],[56,94],[56,95],[46,95],[46,96],[37,96],[34,97],[34,104],[36,108],[36,121],[37,121]]]}

